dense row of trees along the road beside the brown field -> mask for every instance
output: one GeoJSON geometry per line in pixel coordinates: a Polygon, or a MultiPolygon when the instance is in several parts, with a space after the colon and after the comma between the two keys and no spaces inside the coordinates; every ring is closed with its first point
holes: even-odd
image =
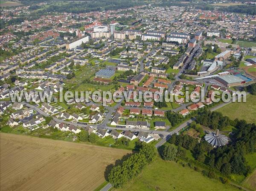
{"type": "Polygon", "coordinates": [[[143,168],[151,163],[157,156],[154,145],[142,144],[139,153],[128,157],[121,165],[113,167],[108,174],[108,181],[113,187],[118,188],[135,177],[143,168]]]}

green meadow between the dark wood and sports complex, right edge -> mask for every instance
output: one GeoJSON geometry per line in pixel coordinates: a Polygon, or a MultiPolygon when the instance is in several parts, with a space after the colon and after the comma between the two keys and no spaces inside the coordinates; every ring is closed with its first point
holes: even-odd
{"type": "Polygon", "coordinates": [[[217,110],[234,120],[246,120],[247,123],[256,123],[256,96],[248,94],[246,103],[230,103],[217,110]]]}

